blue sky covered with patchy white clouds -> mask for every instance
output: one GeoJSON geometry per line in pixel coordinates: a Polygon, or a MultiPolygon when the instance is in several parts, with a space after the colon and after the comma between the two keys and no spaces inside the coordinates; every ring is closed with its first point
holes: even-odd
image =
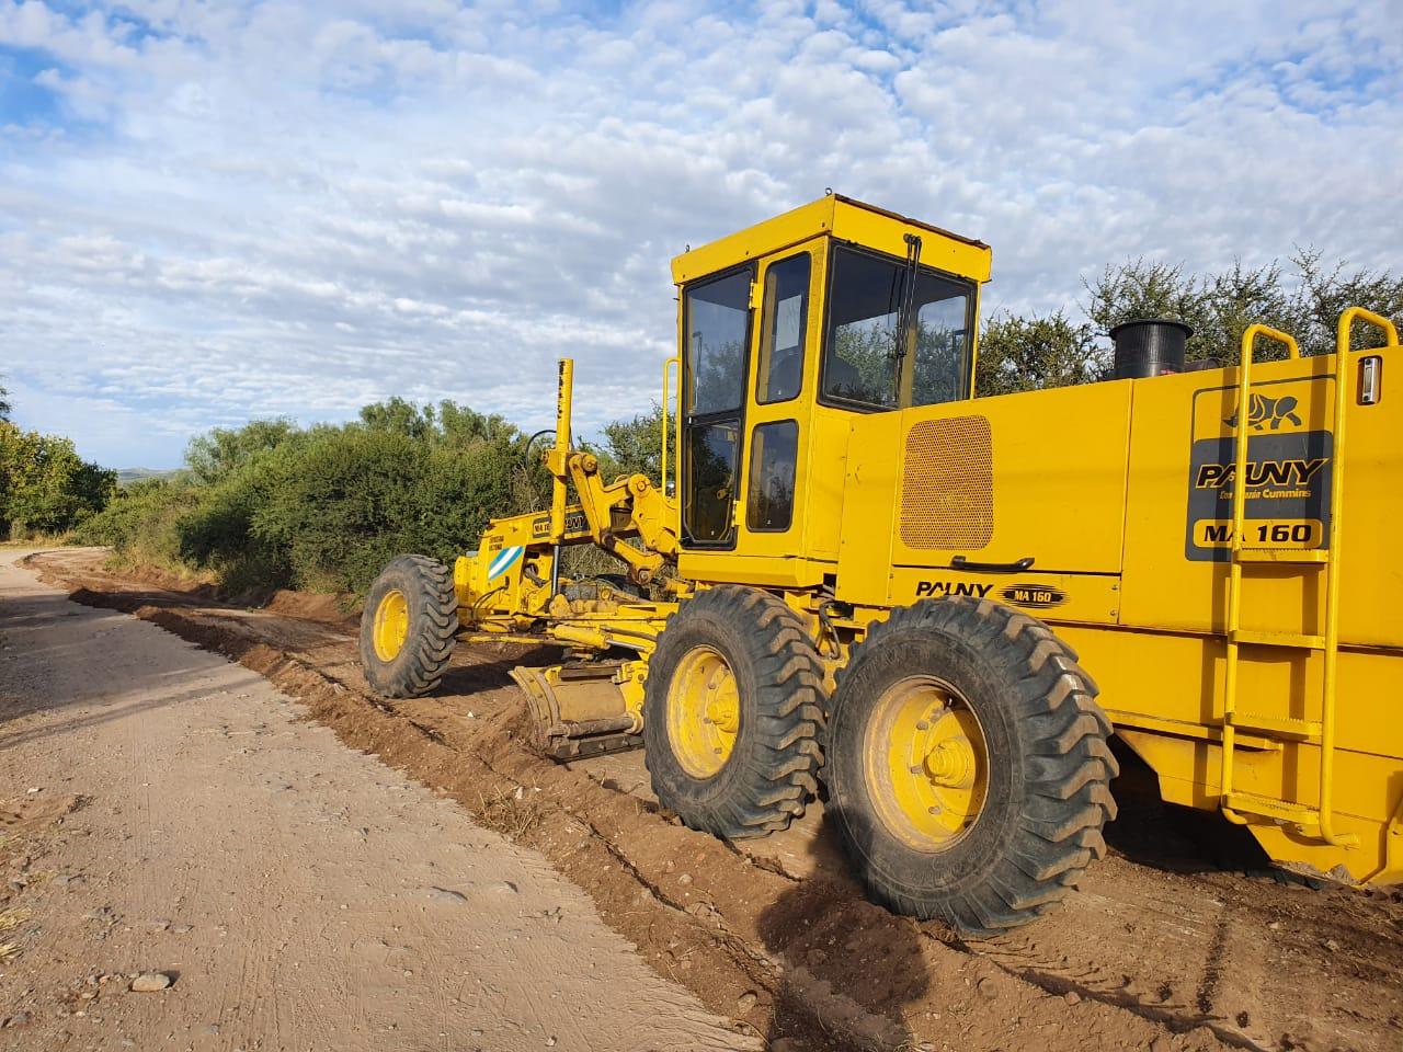
{"type": "Polygon", "coordinates": [[[1403,269],[1403,0],[0,0],[0,384],[111,467],[659,397],[668,262],[833,188],[993,245],[1403,269]]]}

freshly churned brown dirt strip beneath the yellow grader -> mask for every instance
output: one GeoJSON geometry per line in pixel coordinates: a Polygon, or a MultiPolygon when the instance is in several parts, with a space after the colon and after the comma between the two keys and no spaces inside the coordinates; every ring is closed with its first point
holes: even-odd
{"type": "Polygon", "coordinates": [[[866,902],[817,804],[784,835],[728,847],[659,812],[637,753],[571,767],[535,756],[506,672],[550,651],[460,648],[434,697],[384,703],[366,694],[354,624],[325,599],[240,609],[112,572],[91,551],[32,565],[84,605],[239,659],[345,745],[540,851],[658,975],[776,1049],[1403,1045],[1400,896],[1282,882],[1240,842],[1202,840],[1138,800],[1145,771],[1131,763],[1111,857],[1082,892],[965,944],[866,902]]]}

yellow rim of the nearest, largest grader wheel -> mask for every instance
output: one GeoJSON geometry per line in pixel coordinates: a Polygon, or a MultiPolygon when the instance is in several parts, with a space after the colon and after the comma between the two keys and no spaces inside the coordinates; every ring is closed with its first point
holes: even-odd
{"type": "Polygon", "coordinates": [[[918,851],[948,850],[984,809],[984,728],[960,693],[934,676],[911,676],[882,693],[863,756],[882,823],[918,851]]]}

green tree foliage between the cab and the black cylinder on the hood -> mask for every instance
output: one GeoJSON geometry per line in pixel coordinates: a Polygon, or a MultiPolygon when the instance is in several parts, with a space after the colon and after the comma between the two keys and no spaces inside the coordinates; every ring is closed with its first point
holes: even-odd
{"type": "Polygon", "coordinates": [[[1005,314],[985,323],[975,391],[1012,394],[1090,383],[1108,360],[1092,327],[1068,320],[1062,311],[1047,317],[1005,314]]]}

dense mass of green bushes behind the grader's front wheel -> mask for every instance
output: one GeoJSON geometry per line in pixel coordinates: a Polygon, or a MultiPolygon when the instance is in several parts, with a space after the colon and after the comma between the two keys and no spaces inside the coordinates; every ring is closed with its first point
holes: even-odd
{"type": "Polygon", "coordinates": [[[452,562],[490,518],[550,494],[516,428],[453,403],[391,400],[310,431],[217,429],[191,442],[187,464],[175,480],[128,487],[80,539],[231,593],[363,593],[394,555],[452,562]]]}

